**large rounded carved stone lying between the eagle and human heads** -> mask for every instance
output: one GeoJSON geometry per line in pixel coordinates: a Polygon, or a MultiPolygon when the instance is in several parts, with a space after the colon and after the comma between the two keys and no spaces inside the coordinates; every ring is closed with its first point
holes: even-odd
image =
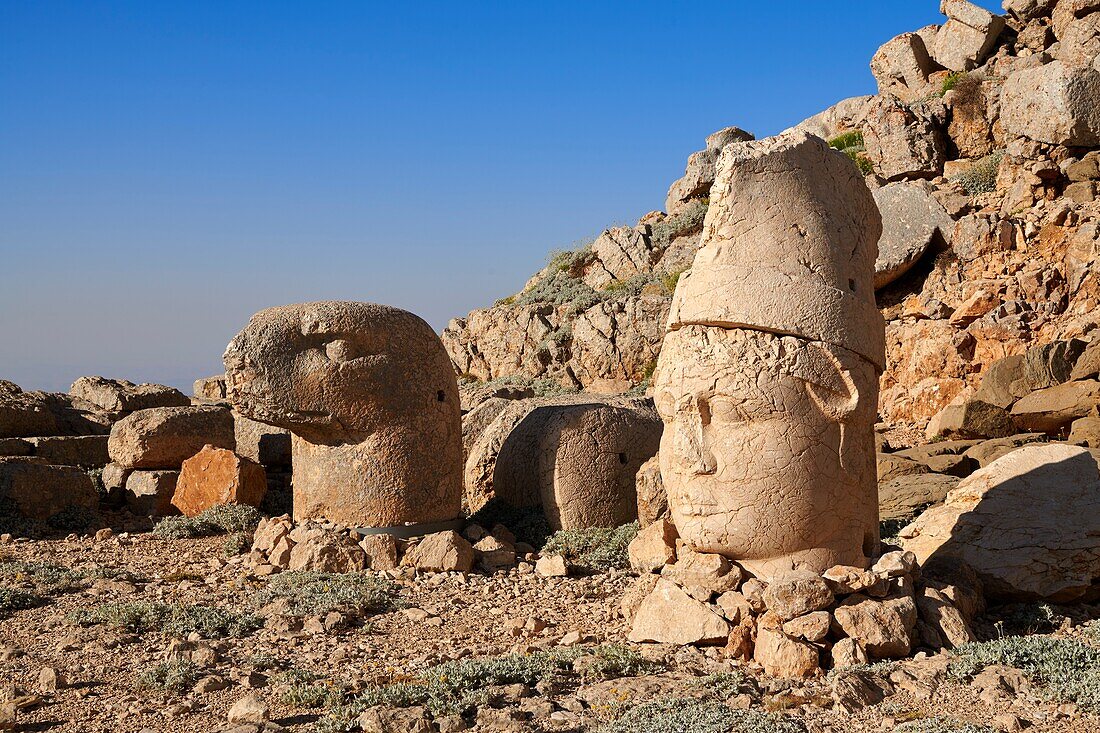
{"type": "Polygon", "coordinates": [[[476,511],[497,497],[542,506],[556,528],[631,522],[635,479],[657,452],[660,435],[661,420],[647,398],[513,401],[469,451],[466,504],[476,511]]]}

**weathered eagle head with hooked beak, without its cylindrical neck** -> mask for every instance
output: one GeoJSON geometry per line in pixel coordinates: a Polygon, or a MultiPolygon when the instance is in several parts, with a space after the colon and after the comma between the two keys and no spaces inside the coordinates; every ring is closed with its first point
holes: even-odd
{"type": "Polygon", "coordinates": [[[438,337],[398,308],[340,302],[268,308],[233,339],[224,361],[239,412],[315,442],[358,442],[459,409],[438,337]]]}

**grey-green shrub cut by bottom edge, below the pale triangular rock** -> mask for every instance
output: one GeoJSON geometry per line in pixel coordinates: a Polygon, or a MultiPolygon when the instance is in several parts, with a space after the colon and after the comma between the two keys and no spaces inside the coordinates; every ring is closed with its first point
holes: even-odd
{"type": "Polygon", "coordinates": [[[806,727],[796,718],[733,710],[714,700],[658,698],[630,708],[597,733],[806,733],[806,727]]]}

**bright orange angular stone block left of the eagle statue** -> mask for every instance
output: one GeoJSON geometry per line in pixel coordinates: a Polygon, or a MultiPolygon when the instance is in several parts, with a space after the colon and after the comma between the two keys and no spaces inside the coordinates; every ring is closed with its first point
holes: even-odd
{"type": "Polygon", "coordinates": [[[267,493],[264,468],[224,448],[206,446],[184,461],[172,504],[185,516],[219,504],[260,506],[267,493]]]}

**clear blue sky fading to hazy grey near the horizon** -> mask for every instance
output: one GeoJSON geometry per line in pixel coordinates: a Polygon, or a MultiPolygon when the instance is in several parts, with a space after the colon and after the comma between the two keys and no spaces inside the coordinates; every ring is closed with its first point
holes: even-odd
{"type": "MultiPolygon", "coordinates": [[[[997,9],[998,3],[981,4],[997,9]]],[[[936,0],[0,0],[0,379],[188,386],[264,307],[437,329],[875,85],[936,0]]]]}

